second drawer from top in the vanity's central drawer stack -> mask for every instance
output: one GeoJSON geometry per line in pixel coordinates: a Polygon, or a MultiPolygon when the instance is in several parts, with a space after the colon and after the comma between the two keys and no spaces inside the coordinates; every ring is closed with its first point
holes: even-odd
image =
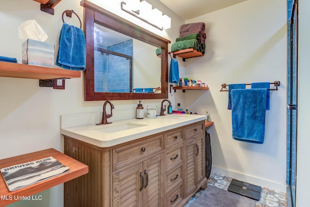
{"type": "Polygon", "coordinates": [[[166,152],[167,171],[180,163],[183,163],[183,144],[173,147],[166,152]]]}

